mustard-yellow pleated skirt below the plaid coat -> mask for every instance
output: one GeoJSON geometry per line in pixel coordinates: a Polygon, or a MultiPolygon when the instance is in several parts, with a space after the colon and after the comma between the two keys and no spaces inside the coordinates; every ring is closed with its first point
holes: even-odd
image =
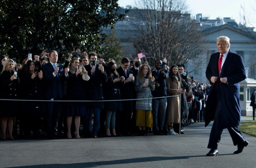
{"type": "Polygon", "coordinates": [[[153,127],[153,116],[151,110],[137,110],[136,126],[153,127]]]}

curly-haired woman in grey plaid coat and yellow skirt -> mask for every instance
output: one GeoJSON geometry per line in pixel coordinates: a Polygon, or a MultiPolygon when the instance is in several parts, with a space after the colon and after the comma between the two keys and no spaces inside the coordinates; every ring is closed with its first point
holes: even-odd
{"type": "Polygon", "coordinates": [[[145,127],[153,126],[151,91],[155,90],[155,78],[151,74],[149,65],[143,64],[135,81],[136,101],[136,126],[140,135],[146,135],[145,127]]]}

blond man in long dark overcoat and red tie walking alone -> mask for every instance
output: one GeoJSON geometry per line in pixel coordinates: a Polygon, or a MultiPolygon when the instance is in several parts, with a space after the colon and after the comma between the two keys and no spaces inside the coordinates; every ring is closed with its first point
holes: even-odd
{"type": "Polygon", "coordinates": [[[227,128],[233,144],[241,153],[248,142],[238,129],[241,110],[239,103],[239,82],[246,78],[243,59],[230,51],[229,37],[217,38],[219,52],[211,55],[206,68],[206,77],[212,84],[206,103],[205,126],[214,120],[207,148],[211,149],[206,156],[218,155],[218,143],[223,129],[227,128]]]}

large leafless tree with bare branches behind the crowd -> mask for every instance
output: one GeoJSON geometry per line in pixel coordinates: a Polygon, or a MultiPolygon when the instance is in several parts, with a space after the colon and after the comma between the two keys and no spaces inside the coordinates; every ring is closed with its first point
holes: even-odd
{"type": "Polygon", "coordinates": [[[135,47],[145,52],[151,65],[163,58],[168,66],[199,59],[206,44],[198,23],[186,12],[184,0],[137,0],[136,5],[141,9],[134,20],[138,32],[135,47]]]}

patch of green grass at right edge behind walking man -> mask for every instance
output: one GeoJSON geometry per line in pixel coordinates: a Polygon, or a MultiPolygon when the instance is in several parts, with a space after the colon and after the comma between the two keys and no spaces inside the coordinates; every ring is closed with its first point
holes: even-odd
{"type": "Polygon", "coordinates": [[[256,136],[256,120],[243,121],[238,128],[243,133],[256,136]]]}

